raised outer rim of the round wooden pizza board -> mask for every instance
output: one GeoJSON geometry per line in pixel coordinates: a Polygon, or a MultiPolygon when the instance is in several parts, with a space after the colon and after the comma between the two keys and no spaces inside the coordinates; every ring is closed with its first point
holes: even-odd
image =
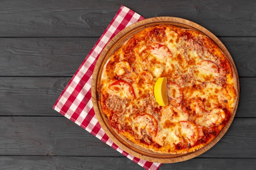
{"type": "Polygon", "coordinates": [[[139,158],[147,160],[147,161],[153,161],[153,162],[159,162],[159,163],[175,163],[175,162],[185,161],[185,160],[191,159],[193,157],[196,157],[198,155],[201,155],[202,153],[204,153],[207,150],[209,150],[212,146],[214,146],[223,137],[223,135],[225,135],[225,133],[227,132],[229,126],[231,125],[231,123],[232,123],[232,121],[234,119],[234,116],[235,116],[236,110],[237,110],[237,106],[238,106],[238,101],[239,101],[239,91],[240,91],[240,89],[239,89],[239,79],[238,79],[238,73],[237,73],[237,70],[236,70],[236,66],[234,64],[234,60],[232,59],[230,53],[228,52],[228,50],[226,49],[224,44],[222,44],[222,42],[215,35],[213,35],[213,33],[208,31],[204,27],[202,27],[202,26],[200,26],[200,25],[198,25],[198,24],[196,24],[194,22],[191,22],[189,20],[185,20],[185,19],[182,19],[182,18],[175,18],[175,17],[148,18],[148,19],[142,20],[140,22],[137,22],[135,24],[132,24],[132,25],[126,27],[125,29],[123,29],[122,31],[120,31],[112,39],[112,41],[110,41],[107,44],[107,46],[103,49],[103,51],[102,51],[102,53],[101,53],[101,55],[100,55],[100,57],[99,57],[99,59],[97,61],[97,64],[95,66],[93,77],[92,77],[93,107],[94,107],[94,111],[95,111],[95,114],[97,116],[97,119],[98,119],[100,125],[102,126],[103,130],[106,132],[106,134],[110,137],[110,139],[112,139],[115,142],[115,144],[117,144],[117,146],[119,146],[120,148],[122,148],[126,152],[132,154],[133,156],[139,157],[139,158]],[[233,73],[236,75],[236,82],[237,82],[237,92],[238,93],[237,93],[237,99],[236,99],[236,106],[235,106],[235,108],[233,110],[233,113],[231,114],[231,117],[230,117],[228,123],[224,126],[222,131],[207,146],[204,146],[204,148],[202,148],[200,150],[197,150],[195,152],[190,152],[188,154],[184,154],[184,156],[181,155],[180,157],[175,157],[175,158],[171,158],[170,157],[170,158],[159,159],[159,158],[155,158],[155,157],[150,157],[150,156],[139,154],[139,153],[135,152],[134,150],[131,150],[127,146],[124,146],[124,144],[122,144],[120,141],[118,141],[115,138],[115,136],[110,131],[108,131],[109,129],[106,126],[106,122],[103,121],[104,118],[101,117],[101,113],[99,111],[99,106],[98,106],[99,103],[97,101],[99,99],[99,98],[97,98],[97,89],[96,89],[97,86],[99,85],[99,84],[97,84],[97,80],[99,79],[98,71],[99,71],[99,67],[101,66],[101,61],[105,57],[105,54],[108,52],[108,49],[115,42],[119,41],[119,39],[122,38],[122,35],[127,33],[129,30],[136,29],[137,26],[143,26],[143,25],[151,24],[151,23],[154,24],[154,23],[157,23],[157,22],[175,22],[176,23],[175,25],[176,26],[180,26],[180,27],[184,27],[184,24],[185,24],[185,25],[188,25],[190,27],[191,26],[195,27],[196,31],[200,31],[204,35],[207,35],[209,38],[211,38],[211,40],[213,40],[213,42],[215,42],[220,47],[220,49],[222,49],[223,53],[226,55],[226,57],[230,61],[231,65],[232,65],[232,68],[233,68],[233,73]],[[182,23],[180,23],[180,22],[182,22],[182,23]]]}

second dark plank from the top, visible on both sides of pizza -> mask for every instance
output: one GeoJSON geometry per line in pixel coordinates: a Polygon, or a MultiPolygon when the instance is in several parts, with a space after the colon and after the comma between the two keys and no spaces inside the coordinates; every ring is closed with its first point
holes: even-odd
{"type": "MultiPolygon", "coordinates": [[[[0,38],[0,76],[72,76],[99,38],[0,38]]],[[[256,77],[256,38],[220,38],[240,77],[256,77]]]]}

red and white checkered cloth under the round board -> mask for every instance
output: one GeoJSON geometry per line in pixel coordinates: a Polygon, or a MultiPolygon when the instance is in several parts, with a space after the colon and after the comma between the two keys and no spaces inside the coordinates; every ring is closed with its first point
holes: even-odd
{"type": "Polygon", "coordinates": [[[127,7],[121,6],[101,38],[67,84],[53,108],[140,166],[147,170],[157,170],[161,163],[153,163],[134,157],[113,143],[101,128],[92,107],[92,73],[101,51],[119,31],[144,19],[127,7]]]}

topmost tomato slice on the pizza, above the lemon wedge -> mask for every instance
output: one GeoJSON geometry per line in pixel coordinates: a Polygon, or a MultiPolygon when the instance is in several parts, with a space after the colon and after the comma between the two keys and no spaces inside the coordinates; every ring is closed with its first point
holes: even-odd
{"type": "Polygon", "coordinates": [[[148,51],[150,51],[151,54],[153,54],[155,57],[160,59],[164,59],[166,57],[172,57],[171,51],[165,45],[154,43],[148,46],[147,49],[148,51]]]}

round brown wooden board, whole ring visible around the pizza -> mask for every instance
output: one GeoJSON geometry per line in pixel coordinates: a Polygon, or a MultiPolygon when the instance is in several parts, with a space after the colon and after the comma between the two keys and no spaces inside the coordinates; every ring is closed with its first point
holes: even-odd
{"type": "Polygon", "coordinates": [[[142,21],[139,21],[135,24],[132,24],[125,28],[124,30],[120,31],[108,44],[106,47],[103,49],[97,64],[94,68],[94,72],[92,75],[92,103],[93,103],[93,108],[95,111],[95,114],[97,116],[97,119],[99,121],[99,124],[103,128],[103,130],[106,132],[108,137],[112,141],[117,144],[120,148],[128,152],[129,154],[138,157],[140,159],[144,159],[147,161],[152,161],[152,162],[159,162],[159,163],[175,163],[175,162],[180,162],[180,161],[185,161],[188,159],[191,159],[193,157],[197,157],[198,155],[201,155],[202,153],[206,152],[209,150],[212,146],[214,146],[220,138],[227,132],[229,126],[231,125],[234,116],[236,114],[236,109],[238,106],[238,99],[239,99],[239,80],[238,80],[238,73],[236,70],[236,66],[234,64],[234,61],[229,54],[229,51],[226,49],[226,47],[222,44],[222,42],[215,36],[213,35],[210,31],[205,29],[204,27],[191,22],[189,20],[185,20],[182,18],[175,18],[175,17],[155,17],[155,18],[149,18],[145,19],[142,21]],[[234,108],[233,113],[231,114],[231,117],[228,121],[228,123],[224,126],[222,131],[218,134],[218,136],[213,139],[207,146],[204,148],[197,150],[195,152],[189,152],[186,154],[176,154],[176,155],[171,155],[171,154],[159,154],[157,152],[153,152],[151,150],[146,150],[145,148],[142,148],[141,146],[138,146],[136,144],[133,144],[132,142],[128,141],[125,137],[122,135],[119,135],[108,123],[108,119],[106,119],[104,113],[101,110],[101,102],[100,102],[100,91],[101,91],[101,74],[103,71],[103,66],[106,64],[106,61],[108,58],[114,53],[119,47],[126,42],[130,37],[144,29],[146,26],[154,26],[154,25],[159,25],[159,24],[167,24],[167,25],[175,25],[175,26],[180,26],[182,28],[187,28],[187,29],[193,29],[196,31],[199,31],[203,33],[204,35],[207,35],[213,42],[215,42],[220,49],[222,49],[223,53],[227,56],[229,59],[231,65],[233,66],[234,74],[236,74],[236,80],[237,80],[237,100],[236,100],[236,106],[234,108]]]}

